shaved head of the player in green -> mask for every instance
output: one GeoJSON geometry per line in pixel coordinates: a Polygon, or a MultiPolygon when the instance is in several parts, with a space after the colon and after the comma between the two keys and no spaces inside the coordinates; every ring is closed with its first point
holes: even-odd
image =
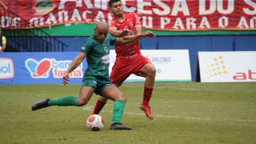
{"type": "Polygon", "coordinates": [[[97,22],[94,28],[94,37],[98,42],[104,42],[106,35],[109,31],[109,26],[106,22],[97,22]]]}

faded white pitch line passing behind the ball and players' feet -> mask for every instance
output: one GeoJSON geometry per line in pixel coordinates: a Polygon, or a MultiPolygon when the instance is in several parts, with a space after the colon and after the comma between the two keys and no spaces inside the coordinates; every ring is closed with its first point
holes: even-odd
{"type": "MultiPolygon", "coordinates": [[[[111,105],[105,105],[105,106],[111,106],[111,105]]],[[[112,105],[113,106],[113,105],[112,105]]],[[[82,108],[82,110],[86,111],[92,111],[94,110],[94,106],[85,106],[82,108]]],[[[102,110],[103,112],[113,113],[112,110],[102,110]]],[[[130,115],[145,115],[144,113],[134,113],[134,112],[124,112],[124,114],[130,114],[130,115]]],[[[154,115],[154,117],[158,118],[175,118],[175,119],[188,119],[188,120],[201,120],[201,121],[214,121],[214,118],[199,118],[199,117],[180,117],[178,115],[154,115]]],[[[222,120],[226,122],[256,122],[256,120],[251,119],[226,119],[222,120]]]]}

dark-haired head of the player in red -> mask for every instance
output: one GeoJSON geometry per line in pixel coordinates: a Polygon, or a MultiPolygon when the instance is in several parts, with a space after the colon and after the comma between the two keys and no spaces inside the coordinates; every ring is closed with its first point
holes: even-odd
{"type": "Polygon", "coordinates": [[[114,16],[122,16],[123,14],[123,7],[121,0],[110,0],[109,2],[110,11],[114,16]]]}

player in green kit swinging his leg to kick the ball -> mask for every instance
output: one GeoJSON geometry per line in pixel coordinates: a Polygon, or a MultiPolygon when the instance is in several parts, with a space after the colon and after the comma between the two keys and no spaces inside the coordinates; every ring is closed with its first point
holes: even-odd
{"type": "Polygon", "coordinates": [[[82,88],[78,97],[66,96],[62,98],[44,99],[35,102],[32,110],[42,109],[47,106],[84,106],[89,102],[91,96],[102,95],[114,101],[114,110],[110,130],[131,130],[129,127],[122,126],[122,113],[126,104],[126,97],[122,92],[110,82],[109,62],[110,45],[128,44],[136,42],[142,37],[154,37],[154,33],[147,31],[144,34],[136,34],[115,38],[108,34],[109,26],[105,22],[98,22],[94,35],[90,36],[83,44],[78,56],[71,62],[66,75],[62,78],[63,84],[69,82],[70,73],[86,58],[88,67],[83,76],[82,88]]]}

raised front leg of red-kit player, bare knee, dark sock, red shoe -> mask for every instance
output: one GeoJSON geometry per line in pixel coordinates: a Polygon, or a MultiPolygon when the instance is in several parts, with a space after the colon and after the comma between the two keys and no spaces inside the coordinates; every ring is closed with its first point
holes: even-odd
{"type": "Polygon", "coordinates": [[[154,64],[148,63],[142,67],[139,73],[139,75],[146,78],[144,82],[144,93],[143,93],[141,109],[145,111],[146,117],[150,119],[154,118],[154,116],[150,112],[149,103],[150,103],[150,98],[152,96],[152,92],[154,89],[155,72],[156,70],[155,70],[154,64]]]}

